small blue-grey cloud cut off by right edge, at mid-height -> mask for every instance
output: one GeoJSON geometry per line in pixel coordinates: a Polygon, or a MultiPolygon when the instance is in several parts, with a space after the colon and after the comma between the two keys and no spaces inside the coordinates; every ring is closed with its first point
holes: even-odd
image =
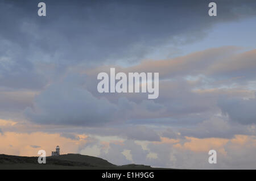
{"type": "Polygon", "coordinates": [[[229,116],[230,121],[240,124],[256,123],[256,98],[251,99],[220,99],[218,106],[222,113],[229,116]]]}

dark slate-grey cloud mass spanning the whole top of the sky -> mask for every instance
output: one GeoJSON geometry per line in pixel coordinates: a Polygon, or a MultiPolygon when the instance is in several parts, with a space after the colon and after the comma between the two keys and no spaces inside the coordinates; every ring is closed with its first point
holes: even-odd
{"type": "Polygon", "coordinates": [[[1,1],[1,37],[29,52],[29,60],[60,68],[118,58],[138,61],[174,37],[196,40],[215,23],[255,15],[254,1],[217,1],[218,16],[209,18],[210,1],[46,0],[47,16],[39,17],[38,2],[1,1]]]}

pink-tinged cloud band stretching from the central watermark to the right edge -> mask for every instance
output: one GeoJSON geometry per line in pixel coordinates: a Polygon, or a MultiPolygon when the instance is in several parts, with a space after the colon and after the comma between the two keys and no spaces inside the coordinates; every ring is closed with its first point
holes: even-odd
{"type": "MultiPolygon", "coordinates": [[[[256,68],[254,57],[256,50],[245,50],[241,47],[224,46],[209,48],[166,60],[144,60],[135,66],[115,66],[116,72],[158,72],[162,80],[185,78],[208,78],[208,81],[250,81],[255,77],[256,68]]],[[[101,66],[85,73],[95,74],[108,72],[113,65],[101,66]]],[[[222,83],[222,82],[219,82],[222,83]]],[[[228,82],[224,82],[228,83],[228,82]]]]}

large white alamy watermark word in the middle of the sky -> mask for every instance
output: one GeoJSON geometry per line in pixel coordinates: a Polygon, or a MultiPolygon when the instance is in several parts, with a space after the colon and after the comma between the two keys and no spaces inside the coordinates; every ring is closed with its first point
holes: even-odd
{"type": "Polygon", "coordinates": [[[110,68],[110,85],[109,75],[105,72],[99,73],[97,79],[101,80],[97,86],[100,93],[148,92],[148,99],[156,99],[159,96],[159,73],[154,73],[154,81],[152,73],[128,73],[127,82],[127,75],[125,73],[119,72],[115,74],[115,68],[110,68]]]}

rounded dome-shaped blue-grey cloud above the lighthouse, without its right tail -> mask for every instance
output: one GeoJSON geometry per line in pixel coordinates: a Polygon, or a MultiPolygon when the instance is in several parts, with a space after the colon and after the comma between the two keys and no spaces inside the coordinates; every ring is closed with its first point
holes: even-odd
{"type": "Polygon", "coordinates": [[[106,99],[98,99],[74,82],[48,87],[36,96],[33,108],[25,115],[39,124],[104,125],[113,121],[117,106],[106,99]]]}

